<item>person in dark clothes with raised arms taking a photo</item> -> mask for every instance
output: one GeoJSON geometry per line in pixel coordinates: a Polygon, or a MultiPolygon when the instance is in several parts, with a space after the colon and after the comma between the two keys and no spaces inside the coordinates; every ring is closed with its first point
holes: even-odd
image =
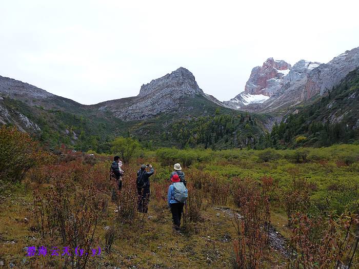
{"type": "Polygon", "coordinates": [[[141,213],[147,213],[148,202],[150,200],[150,180],[149,177],[154,173],[154,169],[151,164],[142,164],[141,169],[137,171],[137,210],[141,213]],[[146,171],[146,168],[150,168],[150,172],[146,171]]]}

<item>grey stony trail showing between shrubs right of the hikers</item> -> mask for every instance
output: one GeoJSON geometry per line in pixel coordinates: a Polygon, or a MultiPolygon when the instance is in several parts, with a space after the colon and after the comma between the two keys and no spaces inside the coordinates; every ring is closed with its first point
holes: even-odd
{"type": "MultiPolygon", "coordinates": [[[[215,210],[222,211],[230,217],[234,217],[234,214],[237,214],[238,217],[241,217],[237,211],[230,208],[216,207],[215,210]]],[[[270,225],[269,227],[269,245],[275,250],[282,253],[285,257],[289,257],[287,240],[283,235],[276,231],[275,227],[270,225]]]]}

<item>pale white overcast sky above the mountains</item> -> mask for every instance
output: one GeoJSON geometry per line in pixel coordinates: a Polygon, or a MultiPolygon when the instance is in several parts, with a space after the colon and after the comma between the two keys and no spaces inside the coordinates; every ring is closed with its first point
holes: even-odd
{"type": "Polygon", "coordinates": [[[2,1],[0,75],[81,104],[135,96],[179,67],[218,100],[269,58],[359,47],[359,1],[2,1]]]}

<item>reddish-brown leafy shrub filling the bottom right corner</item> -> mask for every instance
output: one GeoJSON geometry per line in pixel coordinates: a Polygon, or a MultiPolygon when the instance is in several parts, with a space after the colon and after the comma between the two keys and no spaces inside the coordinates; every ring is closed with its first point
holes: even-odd
{"type": "Polygon", "coordinates": [[[359,241],[359,216],[310,218],[296,213],[292,219],[287,268],[351,268],[359,265],[355,253],[359,241]]]}

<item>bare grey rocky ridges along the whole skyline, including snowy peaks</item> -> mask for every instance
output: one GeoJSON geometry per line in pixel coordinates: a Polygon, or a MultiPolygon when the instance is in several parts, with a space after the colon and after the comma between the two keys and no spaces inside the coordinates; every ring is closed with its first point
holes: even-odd
{"type": "MultiPolygon", "coordinates": [[[[269,112],[279,117],[303,101],[326,94],[328,89],[337,85],[358,66],[359,48],[346,51],[327,64],[300,60],[291,66],[284,60],[268,58],[261,67],[252,69],[245,90],[226,102],[220,102],[213,96],[205,94],[197,85],[194,75],[183,67],[142,85],[137,96],[90,106],[78,104],[35,86],[1,76],[0,97],[22,101],[30,108],[39,108],[39,110],[63,111],[76,115],[91,114],[98,119],[115,117],[125,122],[155,118],[167,113],[187,114],[197,107],[195,102],[188,105],[191,99],[201,100],[201,109],[203,109],[201,113],[206,113],[206,106],[218,106],[249,112],[269,112]]],[[[5,106],[4,101],[0,102],[0,122],[3,124],[17,122],[17,125],[24,126],[24,129],[28,127],[37,130],[36,122],[32,122],[31,117],[24,112],[11,109],[9,105],[5,106]]]]}

